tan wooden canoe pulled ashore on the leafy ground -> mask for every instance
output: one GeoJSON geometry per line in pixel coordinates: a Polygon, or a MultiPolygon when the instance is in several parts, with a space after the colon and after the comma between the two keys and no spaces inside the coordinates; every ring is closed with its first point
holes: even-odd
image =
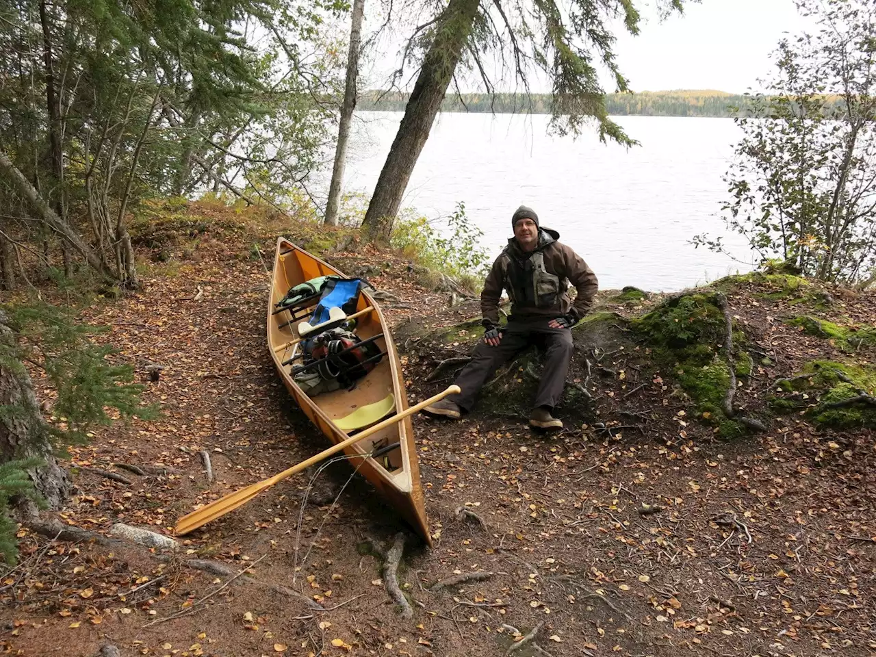
{"type": "MultiPolygon", "coordinates": [[[[289,288],[304,281],[319,276],[331,274],[343,276],[335,267],[304,251],[289,242],[285,237],[277,241],[277,251],[274,256],[274,267],[270,299],[268,300],[267,336],[268,346],[274,365],[277,367],[283,385],[301,407],[307,417],[325,434],[331,442],[339,443],[350,437],[336,422],[342,425],[344,419],[349,419],[352,413],[366,406],[374,408],[392,395],[395,410],[392,413],[404,411],[407,408],[407,393],[402,376],[399,355],[392,342],[392,334],[384,320],[377,303],[368,293],[361,293],[357,313],[356,333],[361,339],[383,334],[375,343],[381,351],[386,352],[373,370],[364,378],[360,378],[352,390],[341,389],[334,392],[322,392],[308,397],[295,383],[292,376],[293,364],[284,364],[294,354],[295,346],[290,345],[298,339],[298,323],[307,320],[307,315],[299,311],[300,319],[290,321],[287,311],[275,313],[277,302],[283,298],[289,288]],[[374,406],[371,406],[374,405],[374,406]]],[[[314,301],[315,306],[315,301],[314,301]]],[[[300,363],[296,361],[296,363],[300,363]]],[[[360,410],[361,413],[361,410],[360,410]]],[[[356,417],[355,415],[353,417],[356,417]]],[[[355,435],[355,432],[351,432],[355,435]]],[[[432,545],[432,538],[426,517],[426,507],[423,503],[423,491],[420,487],[420,466],[417,462],[416,446],[413,442],[413,426],[411,419],[405,418],[391,427],[365,438],[344,450],[350,459],[350,465],[368,479],[378,493],[395,507],[407,523],[422,536],[427,545],[432,545]],[[399,443],[398,449],[392,449],[380,458],[371,458],[375,449],[399,443]],[[357,458],[356,458],[357,457],[357,458]]]]}

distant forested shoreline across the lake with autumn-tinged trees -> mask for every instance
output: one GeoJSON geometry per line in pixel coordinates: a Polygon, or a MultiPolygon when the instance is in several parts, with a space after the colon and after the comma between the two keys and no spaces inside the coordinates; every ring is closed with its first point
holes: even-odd
{"type": "MultiPolygon", "coordinates": [[[[357,109],[404,111],[409,94],[379,89],[364,92],[357,109]]],[[[638,94],[606,94],[610,116],[642,117],[732,117],[734,108],[752,109],[752,95],[729,94],[712,89],[645,91],[638,94]]],[[[830,99],[832,100],[832,99],[830,99]]],[[[496,112],[499,114],[550,114],[550,94],[448,94],[444,112],[496,112]]]]}

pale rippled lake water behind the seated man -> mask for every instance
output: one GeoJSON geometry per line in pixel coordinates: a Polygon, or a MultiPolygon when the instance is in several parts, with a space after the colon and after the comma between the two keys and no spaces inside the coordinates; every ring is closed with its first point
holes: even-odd
{"type": "MultiPolygon", "coordinates": [[[[371,194],[401,116],[357,112],[345,191],[371,194]]],[[[513,210],[529,205],[542,226],[558,230],[581,254],[604,289],[678,290],[752,269],[689,244],[698,233],[725,235],[737,258],[752,259],[720,218],[728,198],[721,177],[739,138],[731,119],[616,117],[641,143],[629,150],[600,144],[595,131],[548,137],[548,119],[440,114],[403,205],[440,229],[464,201],[491,256],[511,237],[513,210]]]]}

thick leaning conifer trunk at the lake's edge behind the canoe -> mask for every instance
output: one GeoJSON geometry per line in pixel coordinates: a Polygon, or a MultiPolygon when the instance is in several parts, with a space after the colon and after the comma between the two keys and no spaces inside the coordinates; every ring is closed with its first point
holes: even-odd
{"type": "Polygon", "coordinates": [[[392,148],[371,196],[363,227],[378,242],[388,242],[413,167],[429,137],[434,117],[468,42],[480,0],[450,0],[434,27],[434,38],[405,107],[392,148]]]}

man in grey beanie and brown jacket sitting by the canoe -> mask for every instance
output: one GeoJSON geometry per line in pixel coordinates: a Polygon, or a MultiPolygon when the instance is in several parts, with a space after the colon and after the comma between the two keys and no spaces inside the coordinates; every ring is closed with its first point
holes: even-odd
{"type": "Polygon", "coordinates": [[[498,368],[534,344],[545,351],[545,364],[529,424],[562,428],[562,421],[552,413],[562,397],[572,358],[571,328],[590,309],[597,277],[575,251],[557,241],[558,232],[539,227],[532,208],[521,205],[511,223],[514,237],[493,263],[481,293],[484,341],[456,378],[462,392],[423,410],[458,419],[461,411],[471,410],[477,392],[498,368]],[[574,304],[569,300],[569,283],[577,290],[574,304]],[[498,304],[503,289],[512,307],[508,325],[500,329],[498,304]]]}

